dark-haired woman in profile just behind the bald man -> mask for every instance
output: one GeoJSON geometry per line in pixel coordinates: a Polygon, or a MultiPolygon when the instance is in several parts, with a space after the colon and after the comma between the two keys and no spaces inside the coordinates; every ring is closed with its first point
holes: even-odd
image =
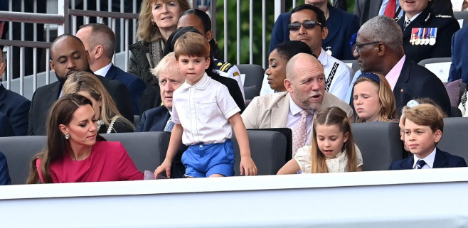
{"type": "MultiPolygon", "coordinates": [[[[284,79],[286,79],[286,64],[292,56],[299,53],[307,53],[314,55],[310,50],[309,45],[302,41],[286,41],[277,45],[270,53],[268,58],[268,69],[265,71],[266,81],[263,83],[270,85],[270,88],[275,92],[284,92],[284,79]]],[[[315,56],[315,55],[314,55],[315,56]]],[[[315,56],[317,58],[317,56],[315,56]]],[[[265,85],[266,86],[266,85],[265,85]]],[[[264,85],[262,85],[263,89],[264,85]]]]}

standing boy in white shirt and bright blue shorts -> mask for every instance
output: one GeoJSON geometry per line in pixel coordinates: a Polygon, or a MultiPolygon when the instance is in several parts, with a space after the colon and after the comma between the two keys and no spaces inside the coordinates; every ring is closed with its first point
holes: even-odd
{"type": "Polygon", "coordinates": [[[240,174],[256,175],[240,109],[228,88],[206,75],[211,61],[208,40],[199,33],[184,33],[176,40],[174,53],[186,82],[173,94],[174,128],[166,159],[154,171],[155,178],[164,171],[170,177],[171,163],[181,143],[188,146],[182,156],[186,177],[234,175],[232,130],[240,148],[240,174]]]}

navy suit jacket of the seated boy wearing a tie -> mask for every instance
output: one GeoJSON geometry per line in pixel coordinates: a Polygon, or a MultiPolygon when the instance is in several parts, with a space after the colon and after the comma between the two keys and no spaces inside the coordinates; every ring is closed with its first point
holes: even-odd
{"type": "MultiPolygon", "coordinates": [[[[467,163],[462,157],[454,156],[450,153],[441,151],[439,148],[435,148],[434,165],[432,168],[454,168],[454,167],[467,167],[467,163]]],[[[413,169],[413,163],[415,162],[414,156],[405,158],[400,161],[394,161],[389,170],[410,170],[413,169]]]]}

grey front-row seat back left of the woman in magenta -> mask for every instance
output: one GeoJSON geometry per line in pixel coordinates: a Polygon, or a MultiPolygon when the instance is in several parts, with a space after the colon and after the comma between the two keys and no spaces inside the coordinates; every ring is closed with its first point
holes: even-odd
{"type": "Polygon", "coordinates": [[[46,146],[46,136],[0,138],[0,151],[6,156],[12,185],[26,183],[33,156],[44,146],[46,146]]]}

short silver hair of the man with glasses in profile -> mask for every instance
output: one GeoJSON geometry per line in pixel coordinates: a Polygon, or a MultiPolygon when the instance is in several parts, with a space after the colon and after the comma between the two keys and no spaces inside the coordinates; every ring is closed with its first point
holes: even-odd
{"type": "Polygon", "coordinates": [[[371,18],[361,26],[358,33],[369,40],[385,43],[395,50],[403,46],[403,32],[400,26],[388,16],[371,18]]]}

